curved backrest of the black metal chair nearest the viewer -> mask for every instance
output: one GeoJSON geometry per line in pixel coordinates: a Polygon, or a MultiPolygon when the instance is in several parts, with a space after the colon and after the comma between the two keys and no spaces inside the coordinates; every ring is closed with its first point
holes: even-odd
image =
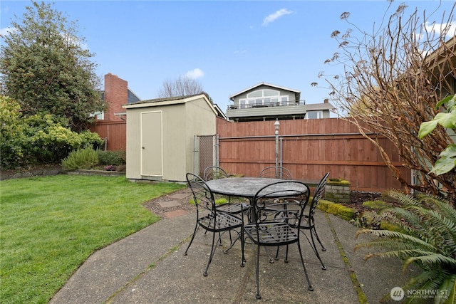
{"type": "Polygon", "coordinates": [[[281,181],[263,187],[254,196],[257,226],[267,221],[286,221],[290,225],[301,222],[309,201],[309,186],[298,181],[281,181]]]}

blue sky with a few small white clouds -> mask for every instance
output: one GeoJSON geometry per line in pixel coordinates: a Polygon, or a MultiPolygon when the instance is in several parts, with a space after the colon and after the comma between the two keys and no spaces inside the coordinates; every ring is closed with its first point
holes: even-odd
{"type": "MultiPolygon", "coordinates": [[[[46,3],[49,1],[45,1],[46,3]]],[[[334,30],[366,31],[380,23],[388,1],[51,1],[80,26],[95,53],[95,73],[128,81],[142,100],[157,98],[166,80],[189,75],[225,111],[229,95],[265,82],[301,90],[306,103],[322,103],[328,90],[311,86],[318,73],[341,73],[323,62],[338,51],[334,30]]],[[[454,1],[397,1],[431,12],[441,21],[454,1]],[[440,7],[439,7],[440,5],[440,7]]],[[[31,1],[0,2],[0,33],[21,17],[31,1]]],[[[388,15],[389,16],[389,15],[388,15]]]]}

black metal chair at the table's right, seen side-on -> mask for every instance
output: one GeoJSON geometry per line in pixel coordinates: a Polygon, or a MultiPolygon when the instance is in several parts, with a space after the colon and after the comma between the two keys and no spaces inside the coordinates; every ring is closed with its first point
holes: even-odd
{"type": "Polygon", "coordinates": [[[309,239],[309,236],[307,236],[304,232],[303,232],[303,234],[304,234],[304,236],[306,236],[307,241],[309,241],[309,244],[311,245],[312,250],[314,250],[314,253],[315,253],[316,257],[318,258],[318,261],[320,261],[320,263],[321,263],[321,269],[323,269],[323,270],[326,270],[326,266],[323,264],[323,261],[321,261],[320,254],[318,254],[318,250],[315,246],[314,236],[316,237],[316,240],[318,241],[318,243],[320,243],[321,250],[326,251],[326,248],[323,246],[323,243],[321,243],[320,238],[318,237],[318,234],[316,233],[314,214],[315,214],[316,207],[318,206],[318,202],[320,201],[321,196],[323,195],[323,192],[325,190],[328,176],[329,176],[329,172],[323,176],[323,178],[321,179],[320,182],[318,182],[318,185],[315,190],[314,198],[312,199],[311,203],[309,204],[309,209],[306,209],[306,211],[302,217],[302,221],[299,224],[299,229],[310,231],[311,239],[309,239]]]}

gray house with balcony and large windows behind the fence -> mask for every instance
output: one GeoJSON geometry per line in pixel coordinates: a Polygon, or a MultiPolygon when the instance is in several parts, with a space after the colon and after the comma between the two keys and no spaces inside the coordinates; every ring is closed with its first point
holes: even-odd
{"type": "Polygon", "coordinates": [[[229,96],[229,100],[233,105],[226,115],[235,122],[328,118],[334,108],[328,100],[306,105],[301,91],[270,83],[254,85],[229,96]]]}

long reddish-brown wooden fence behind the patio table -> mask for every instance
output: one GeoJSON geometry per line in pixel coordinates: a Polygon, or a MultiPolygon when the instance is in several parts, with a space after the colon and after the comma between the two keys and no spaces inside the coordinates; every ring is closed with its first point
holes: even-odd
{"type": "MultiPolygon", "coordinates": [[[[351,190],[383,192],[401,189],[373,143],[358,128],[338,118],[318,120],[281,120],[279,127],[279,164],[291,171],[294,179],[330,178],[351,183],[351,190]]],[[[274,121],[227,122],[217,120],[219,165],[233,174],[258,176],[260,170],[276,163],[274,121]]],[[[403,167],[395,146],[385,137],[368,133],[380,142],[393,164],[410,182],[410,169],[403,167]]]]}

